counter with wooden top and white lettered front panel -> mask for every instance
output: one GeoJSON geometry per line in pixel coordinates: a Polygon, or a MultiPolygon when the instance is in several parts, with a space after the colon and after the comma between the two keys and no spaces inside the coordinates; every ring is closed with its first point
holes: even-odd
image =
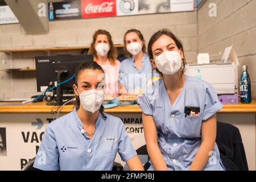
{"type": "MultiPolygon", "coordinates": [[[[1,105],[14,103],[18,102],[0,102],[1,105]]],[[[0,170],[20,170],[29,159],[35,157],[46,125],[56,118],[56,114],[50,114],[52,107],[45,102],[0,106],[0,131],[6,133],[3,138],[6,138],[7,143],[6,152],[0,154],[0,170]]],[[[72,109],[73,105],[64,106],[60,116],[72,109]]],[[[144,146],[139,106],[117,106],[105,109],[105,112],[122,119],[136,150],[144,146]]],[[[230,123],[240,130],[250,170],[255,170],[255,118],[256,101],[251,104],[224,105],[217,113],[217,121],[230,123]]],[[[144,156],[140,158],[146,160],[144,156]]],[[[125,165],[119,156],[115,161],[125,165]]]]}

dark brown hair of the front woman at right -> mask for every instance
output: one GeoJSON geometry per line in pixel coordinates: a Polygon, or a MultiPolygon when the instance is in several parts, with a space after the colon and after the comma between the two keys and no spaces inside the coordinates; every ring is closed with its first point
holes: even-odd
{"type": "MultiPolygon", "coordinates": [[[[177,38],[176,35],[174,35],[174,33],[172,33],[169,29],[167,28],[164,28],[162,30],[159,30],[157,32],[155,32],[154,35],[151,36],[150,38],[150,41],[148,42],[148,46],[147,46],[147,52],[148,52],[148,56],[151,59],[154,59],[153,57],[153,52],[152,52],[152,46],[153,44],[156,42],[156,40],[158,40],[160,38],[160,36],[162,35],[167,35],[169,36],[172,40],[174,40],[177,48],[183,52],[183,59],[182,59],[182,65],[181,65],[181,75],[184,74],[185,72],[185,65],[187,65],[187,61],[185,60],[185,55],[184,55],[184,49],[183,49],[183,44],[181,42],[181,40],[179,38],[177,38]]],[[[156,71],[161,75],[163,76],[163,73],[160,72],[157,68],[156,68],[156,71]]]]}

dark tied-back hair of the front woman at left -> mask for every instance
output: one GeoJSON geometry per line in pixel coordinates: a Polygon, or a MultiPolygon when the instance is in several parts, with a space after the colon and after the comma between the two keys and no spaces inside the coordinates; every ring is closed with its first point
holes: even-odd
{"type": "MultiPolygon", "coordinates": [[[[79,78],[79,76],[80,76],[80,73],[81,73],[82,71],[84,71],[85,69],[93,69],[93,70],[98,69],[98,70],[100,70],[102,73],[104,73],[104,70],[103,70],[103,69],[101,68],[101,66],[98,65],[95,61],[84,61],[83,63],[79,64],[79,66],[76,68],[76,71],[75,71],[75,73],[76,73],[75,85],[77,86],[77,88],[78,88],[77,80],[78,80],[78,78],[79,78]]],[[[75,101],[74,101],[74,104],[75,104],[75,108],[76,108],[76,110],[77,110],[77,109],[79,109],[79,107],[80,107],[80,98],[79,98],[79,96],[75,96],[75,97],[76,97],[76,99],[75,99],[75,101]]],[[[106,116],[105,116],[105,114],[103,113],[103,111],[104,111],[104,106],[103,106],[103,105],[101,105],[99,111],[100,111],[100,113],[101,113],[101,115],[102,115],[102,118],[106,119],[106,116]]]]}

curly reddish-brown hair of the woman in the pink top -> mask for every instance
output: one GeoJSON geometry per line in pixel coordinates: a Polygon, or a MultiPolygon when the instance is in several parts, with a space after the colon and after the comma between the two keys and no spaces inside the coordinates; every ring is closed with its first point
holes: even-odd
{"type": "Polygon", "coordinates": [[[97,39],[98,35],[106,35],[108,37],[109,47],[110,47],[109,52],[108,52],[108,59],[109,59],[110,64],[115,65],[115,60],[117,59],[117,49],[114,47],[114,43],[112,41],[112,36],[106,30],[99,29],[96,32],[94,32],[93,41],[90,44],[90,49],[88,51],[88,54],[94,55],[94,57],[96,57],[96,59],[97,59],[95,43],[96,43],[96,39],[97,39]]]}

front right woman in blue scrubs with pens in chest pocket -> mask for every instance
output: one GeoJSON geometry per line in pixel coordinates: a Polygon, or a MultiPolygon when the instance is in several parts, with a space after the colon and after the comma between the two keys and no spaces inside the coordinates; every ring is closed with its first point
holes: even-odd
{"type": "Polygon", "coordinates": [[[216,91],[184,75],[183,46],[170,30],[151,37],[148,55],[162,75],[140,102],[149,170],[224,170],[215,143],[216,113],[222,109],[216,91]]]}

